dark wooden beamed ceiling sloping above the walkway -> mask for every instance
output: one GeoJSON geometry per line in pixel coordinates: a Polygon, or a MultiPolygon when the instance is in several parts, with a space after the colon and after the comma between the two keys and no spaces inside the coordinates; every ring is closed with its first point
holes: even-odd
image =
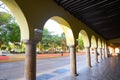
{"type": "Polygon", "coordinates": [[[107,40],[120,38],[120,0],[54,0],[107,40]]]}

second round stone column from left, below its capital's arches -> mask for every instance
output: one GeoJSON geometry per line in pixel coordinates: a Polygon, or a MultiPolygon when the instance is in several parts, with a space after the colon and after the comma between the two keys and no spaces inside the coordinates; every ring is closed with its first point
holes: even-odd
{"type": "Polygon", "coordinates": [[[72,76],[77,76],[77,68],[76,68],[76,51],[75,46],[71,45],[70,48],[70,70],[72,76]]]}

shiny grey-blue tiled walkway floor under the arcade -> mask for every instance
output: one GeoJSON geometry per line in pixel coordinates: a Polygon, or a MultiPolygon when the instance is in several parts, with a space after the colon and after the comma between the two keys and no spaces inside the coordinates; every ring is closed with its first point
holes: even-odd
{"type": "Polygon", "coordinates": [[[77,67],[78,76],[70,76],[69,68],[61,68],[37,77],[37,80],[120,80],[120,57],[110,57],[89,67],[77,67]]]}

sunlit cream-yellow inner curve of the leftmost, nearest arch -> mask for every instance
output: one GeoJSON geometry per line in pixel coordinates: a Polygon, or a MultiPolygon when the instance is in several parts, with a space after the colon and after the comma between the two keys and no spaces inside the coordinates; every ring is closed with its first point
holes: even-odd
{"type": "Polygon", "coordinates": [[[21,40],[29,40],[30,35],[27,20],[15,0],[2,0],[2,2],[10,9],[16,18],[20,28],[21,40]]]}

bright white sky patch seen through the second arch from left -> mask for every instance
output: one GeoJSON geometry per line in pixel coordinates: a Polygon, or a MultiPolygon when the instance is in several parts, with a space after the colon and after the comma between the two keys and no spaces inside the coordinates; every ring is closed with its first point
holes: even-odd
{"type": "Polygon", "coordinates": [[[56,21],[54,21],[52,19],[49,19],[45,23],[44,28],[47,28],[48,31],[50,31],[50,32],[54,32],[53,35],[55,35],[55,34],[60,35],[61,33],[63,33],[61,26],[56,21]]]}

